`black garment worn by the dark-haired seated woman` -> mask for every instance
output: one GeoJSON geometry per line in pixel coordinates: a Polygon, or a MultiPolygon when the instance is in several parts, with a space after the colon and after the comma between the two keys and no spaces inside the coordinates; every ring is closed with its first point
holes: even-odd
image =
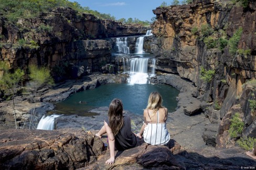
{"type": "MultiPolygon", "coordinates": [[[[131,128],[131,118],[124,116],[123,119],[123,127],[120,129],[119,133],[115,135],[115,150],[118,151],[134,148],[137,144],[137,137],[132,132],[131,128]]],[[[109,121],[106,120],[106,123],[109,124],[109,121]]]]}

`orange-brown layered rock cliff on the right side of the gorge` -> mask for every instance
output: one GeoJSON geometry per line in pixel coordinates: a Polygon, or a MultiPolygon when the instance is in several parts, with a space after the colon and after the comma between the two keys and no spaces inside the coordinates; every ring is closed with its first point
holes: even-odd
{"type": "Polygon", "coordinates": [[[220,147],[225,146],[229,139],[225,135],[230,124],[227,119],[235,112],[241,113],[244,122],[242,136],[255,138],[256,135],[255,110],[249,104],[249,100],[255,100],[256,86],[253,81],[256,77],[255,7],[254,1],[250,1],[245,9],[230,1],[197,0],[188,5],[153,10],[157,20],[152,25],[156,39],[151,49],[157,56],[156,69],[178,74],[197,86],[198,93],[194,97],[214,107],[210,109],[205,105],[201,109],[212,123],[222,124],[216,139],[220,147]],[[250,49],[250,53],[232,54],[229,43],[223,49],[209,46],[202,32],[204,26],[215,31],[213,35],[218,35],[214,40],[216,43],[221,35],[231,39],[241,27],[237,49],[250,49]],[[215,71],[209,82],[201,80],[203,69],[215,71]],[[250,85],[243,85],[247,81],[250,85]],[[240,109],[232,109],[234,105],[240,109]]]}

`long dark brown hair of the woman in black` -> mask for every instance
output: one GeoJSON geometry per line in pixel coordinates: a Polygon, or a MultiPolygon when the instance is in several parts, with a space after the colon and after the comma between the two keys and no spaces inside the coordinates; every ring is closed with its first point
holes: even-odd
{"type": "Polygon", "coordinates": [[[114,136],[123,127],[123,104],[120,99],[113,99],[109,105],[109,127],[114,136]]]}

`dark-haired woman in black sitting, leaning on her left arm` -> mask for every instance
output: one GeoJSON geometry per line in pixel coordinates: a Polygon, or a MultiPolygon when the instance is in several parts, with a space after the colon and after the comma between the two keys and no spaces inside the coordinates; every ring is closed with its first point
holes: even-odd
{"type": "Polygon", "coordinates": [[[123,104],[120,99],[113,99],[109,105],[109,120],[104,121],[104,126],[95,134],[102,137],[108,135],[110,158],[105,163],[113,164],[115,161],[115,150],[123,151],[134,148],[137,145],[137,137],[132,132],[131,118],[123,115],[123,104]]]}

